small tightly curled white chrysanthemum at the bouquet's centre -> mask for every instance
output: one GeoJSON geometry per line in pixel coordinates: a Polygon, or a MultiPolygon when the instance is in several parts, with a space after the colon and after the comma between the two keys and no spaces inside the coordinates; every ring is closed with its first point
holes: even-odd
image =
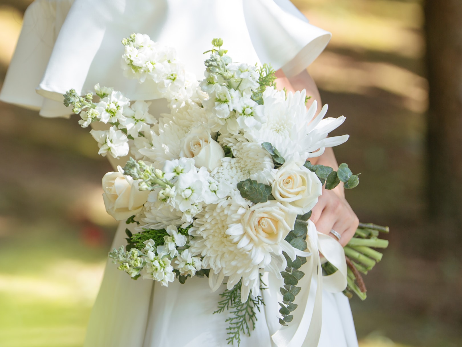
{"type": "Polygon", "coordinates": [[[223,158],[212,176],[215,180],[225,181],[232,187],[240,181],[258,180],[259,183],[271,184],[274,180],[274,163],[271,155],[255,142],[237,142],[232,146],[234,158],[223,158]]]}

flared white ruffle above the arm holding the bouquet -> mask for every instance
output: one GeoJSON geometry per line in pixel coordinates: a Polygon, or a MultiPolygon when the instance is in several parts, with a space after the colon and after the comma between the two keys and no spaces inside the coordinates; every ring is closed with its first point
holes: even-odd
{"type": "Polygon", "coordinates": [[[311,25],[289,0],[244,0],[250,38],[261,62],[292,77],[327,46],[331,34],[311,25]]]}

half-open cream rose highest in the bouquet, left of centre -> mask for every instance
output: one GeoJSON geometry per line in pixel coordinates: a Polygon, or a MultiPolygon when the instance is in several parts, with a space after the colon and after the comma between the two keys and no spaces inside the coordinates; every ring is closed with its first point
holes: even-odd
{"type": "Polygon", "coordinates": [[[196,167],[206,167],[210,172],[221,165],[225,151],[204,126],[198,125],[182,140],[180,156],[193,158],[196,167]]]}

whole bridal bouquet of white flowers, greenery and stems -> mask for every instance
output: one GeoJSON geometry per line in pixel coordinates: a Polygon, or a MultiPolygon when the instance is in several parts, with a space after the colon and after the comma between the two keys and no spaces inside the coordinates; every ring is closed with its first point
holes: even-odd
{"type": "MultiPolygon", "coordinates": [[[[343,182],[350,189],[359,183],[346,164],[334,171],[310,162],[348,139],[328,137],[345,118],[324,118],[327,105],[316,116],[316,101],[307,111],[305,91],[276,90],[270,66],[233,62],[221,39],[205,52],[210,57],[202,81],[185,71],[173,49],[147,35],[132,34],[122,43],[125,75],[149,81],[170,113],[154,117],[149,102],[130,102],[99,85],[97,102],[92,93],[64,95],[83,127],[107,124],[107,130],[90,131],[99,154],[131,156],[125,167],[103,177],[107,212],[135,231],[127,229],[128,244],[109,257],[133,279],[164,286],[205,276],[216,291],[225,280],[217,312],[233,314],[230,343],[253,328],[266,287],[262,274],[272,273],[281,279],[280,324],[290,323],[302,266],[319,258],[309,217],[322,186],[343,182]]],[[[380,227],[362,227],[357,244],[348,248],[348,270],[337,242],[340,262],[312,266],[325,276],[343,273],[340,291],[348,285],[364,297],[359,271],[380,260],[370,247],[386,247],[386,241],[377,239],[380,227]]]]}

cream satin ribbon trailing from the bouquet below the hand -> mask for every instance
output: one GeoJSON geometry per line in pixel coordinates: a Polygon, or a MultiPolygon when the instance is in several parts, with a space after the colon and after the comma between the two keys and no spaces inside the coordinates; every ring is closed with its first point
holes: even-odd
{"type": "Polygon", "coordinates": [[[328,235],[319,233],[314,223],[309,220],[307,246],[306,251],[310,252],[311,256],[300,268],[305,275],[297,285],[302,287],[295,300],[298,309],[294,311],[294,318],[287,327],[281,327],[279,323],[270,323],[277,322],[274,312],[279,310],[278,302],[282,302],[279,288],[284,283],[283,279],[268,273],[269,289],[263,291],[263,294],[267,305],[268,328],[277,347],[317,347],[322,322],[322,285],[331,292],[340,292],[346,288],[345,253],[340,243],[328,235]],[[319,252],[339,271],[330,276],[322,276],[319,252]]]}

